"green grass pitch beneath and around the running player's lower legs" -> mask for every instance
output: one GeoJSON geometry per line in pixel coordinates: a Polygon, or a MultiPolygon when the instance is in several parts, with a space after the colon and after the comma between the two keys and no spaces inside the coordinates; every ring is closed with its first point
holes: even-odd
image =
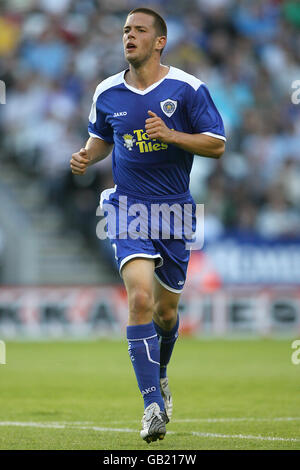
{"type": "Polygon", "coordinates": [[[173,419],[148,445],[126,340],[8,342],[0,449],[300,449],[291,343],[180,338],[169,366],[173,419]]]}

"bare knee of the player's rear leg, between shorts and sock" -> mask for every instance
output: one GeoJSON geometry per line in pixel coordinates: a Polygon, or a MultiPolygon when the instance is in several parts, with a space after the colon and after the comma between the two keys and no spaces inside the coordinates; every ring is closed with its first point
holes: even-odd
{"type": "Polygon", "coordinates": [[[177,320],[180,293],[171,292],[154,279],[154,320],[172,328],[177,320]]]}

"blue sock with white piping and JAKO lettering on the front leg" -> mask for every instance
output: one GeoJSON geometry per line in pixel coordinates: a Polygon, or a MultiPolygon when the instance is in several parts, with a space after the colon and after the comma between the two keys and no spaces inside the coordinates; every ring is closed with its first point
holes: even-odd
{"type": "Polygon", "coordinates": [[[159,383],[159,343],[153,323],[127,327],[128,352],[145,408],[156,402],[164,410],[159,383]]]}

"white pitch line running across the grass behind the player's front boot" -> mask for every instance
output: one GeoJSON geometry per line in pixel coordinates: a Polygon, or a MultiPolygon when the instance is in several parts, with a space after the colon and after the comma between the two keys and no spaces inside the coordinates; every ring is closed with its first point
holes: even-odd
{"type": "MultiPolygon", "coordinates": [[[[126,432],[126,433],[137,433],[136,429],[129,428],[106,428],[99,426],[79,426],[79,425],[68,425],[59,423],[34,423],[34,422],[19,422],[19,421],[0,421],[0,426],[16,426],[16,427],[34,427],[34,428],[48,428],[48,429],[80,429],[87,431],[98,431],[98,432],[126,432]]],[[[168,434],[179,434],[175,431],[168,431],[168,434]]],[[[258,439],[261,441],[284,441],[284,442],[300,442],[300,438],[293,437],[272,437],[272,436],[252,436],[244,434],[218,434],[218,433],[207,433],[198,431],[184,431],[180,434],[187,434],[196,437],[212,437],[220,439],[258,439]]]]}

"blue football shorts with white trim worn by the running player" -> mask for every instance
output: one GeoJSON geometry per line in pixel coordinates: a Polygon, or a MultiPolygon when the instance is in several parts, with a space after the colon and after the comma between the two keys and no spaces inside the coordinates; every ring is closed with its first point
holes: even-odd
{"type": "Polygon", "coordinates": [[[125,194],[117,186],[104,190],[100,208],[120,275],[129,260],[151,258],[160,284],[180,293],[190,258],[186,244],[196,228],[195,207],[189,191],[158,200],[127,191],[125,194]]]}

